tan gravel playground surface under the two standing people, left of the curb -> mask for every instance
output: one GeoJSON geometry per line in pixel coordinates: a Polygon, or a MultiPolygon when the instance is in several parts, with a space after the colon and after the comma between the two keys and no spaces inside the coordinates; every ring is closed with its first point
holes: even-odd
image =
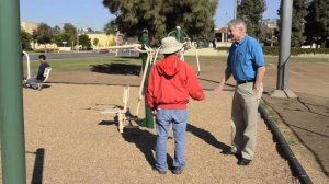
{"type": "MultiPolygon", "coordinates": [[[[152,171],[155,130],[121,135],[113,116],[100,113],[121,105],[122,91],[121,85],[59,83],[42,91],[24,89],[26,183],[298,183],[260,118],[249,166],[220,153],[230,143],[230,91],[220,96],[206,91],[206,101],[190,103],[186,169],[181,175],[159,175],[152,171]]],[[[138,88],[131,88],[133,113],[138,88]]],[[[168,160],[172,157],[170,138],[168,160]]]]}

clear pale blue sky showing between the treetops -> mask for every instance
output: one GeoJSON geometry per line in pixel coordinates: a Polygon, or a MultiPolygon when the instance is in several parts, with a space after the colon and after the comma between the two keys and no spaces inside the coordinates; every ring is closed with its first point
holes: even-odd
{"type": "MultiPolygon", "coordinates": [[[[219,0],[214,16],[216,28],[226,26],[234,18],[234,1],[219,0]]],[[[263,18],[277,18],[276,10],[281,0],[266,0],[268,10],[263,18]]],[[[46,23],[63,27],[72,23],[78,28],[102,31],[114,16],[103,5],[103,0],[20,0],[21,21],[46,23]]]]}

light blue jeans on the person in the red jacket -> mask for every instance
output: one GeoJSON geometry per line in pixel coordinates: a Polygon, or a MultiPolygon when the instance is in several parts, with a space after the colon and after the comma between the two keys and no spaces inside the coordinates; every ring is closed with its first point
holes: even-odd
{"type": "Polygon", "coordinates": [[[185,166],[185,140],[188,125],[188,110],[158,110],[157,112],[157,145],[156,145],[156,169],[167,171],[167,140],[169,127],[172,123],[174,138],[173,166],[183,169],[185,166]]]}

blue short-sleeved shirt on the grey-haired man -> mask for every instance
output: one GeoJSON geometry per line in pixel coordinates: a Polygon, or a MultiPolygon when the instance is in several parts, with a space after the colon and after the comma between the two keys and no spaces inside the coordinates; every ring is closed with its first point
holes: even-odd
{"type": "Polygon", "coordinates": [[[257,68],[264,66],[265,60],[260,44],[246,35],[240,43],[229,48],[227,66],[237,81],[254,80],[257,68]]]}

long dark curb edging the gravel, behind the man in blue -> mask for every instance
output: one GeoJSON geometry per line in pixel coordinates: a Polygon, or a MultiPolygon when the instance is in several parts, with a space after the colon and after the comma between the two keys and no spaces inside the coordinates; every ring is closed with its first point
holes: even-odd
{"type": "Polygon", "coordinates": [[[302,164],[298,162],[297,158],[295,157],[294,152],[290,148],[287,141],[285,140],[285,138],[283,137],[281,131],[279,130],[275,123],[270,117],[263,103],[260,104],[259,112],[260,112],[261,116],[263,117],[265,124],[268,124],[268,126],[271,128],[271,130],[272,130],[277,143],[282,148],[288,163],[292,165],[294,172],[296,173],[297,177],[299,179],[299,182],[302,184],[313,184],[313,182],[309,179],[309,176],[307,175],[306,171],[304,170],[304,168],[302,166],[302,164]]]}

